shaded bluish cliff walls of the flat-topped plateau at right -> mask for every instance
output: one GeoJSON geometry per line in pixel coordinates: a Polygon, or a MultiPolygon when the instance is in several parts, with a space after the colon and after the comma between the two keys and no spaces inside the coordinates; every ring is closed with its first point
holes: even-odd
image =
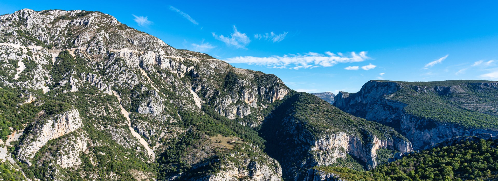
{"type": "MultiPolygon", "coordinates": [[[[468,86],[497,89],[497,82],[469,83],[468,86]]],[[[429,148],[455,136],[498,133],[493,129],[466,128],[455,123],[436,122],[410,115],[404,110],[407,104],[391,99],[393,94],[401,89],[408,88],[403,83],[372,80],[367,82],[358,93],[339,92],[335,97],[334,105],[354,116],[394,127],[413,143],[415,150],[429,148]]],[[[409,89],[413,90],[413,94],[432,93],[440,96],[465,92],[462,85],[414,85],[409,86],[409,89]]]]}

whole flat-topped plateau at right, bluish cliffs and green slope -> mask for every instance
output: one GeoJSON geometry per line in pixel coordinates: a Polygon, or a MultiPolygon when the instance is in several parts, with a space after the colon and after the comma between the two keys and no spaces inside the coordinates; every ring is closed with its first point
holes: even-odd
{"type": "Polygon", "coordinates": [[[367,82],[358,93],[340,92],[334,105],[352,115],[394,127],[414,149],[455,136],[498,133],[498,82],[367,82]]]}

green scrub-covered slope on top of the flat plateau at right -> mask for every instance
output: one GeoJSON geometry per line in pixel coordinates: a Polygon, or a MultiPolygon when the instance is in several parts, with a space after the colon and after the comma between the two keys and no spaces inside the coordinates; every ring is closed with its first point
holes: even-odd
{"type": "Polygon", "coordinates": [[[409,114],[467,128],[498,129],[498,88],[483,86],[496,81],[390,82],[401,84],[387,99],[407,104],[405,110],[409,114]],[[430,88],[436,91],[423,92],[430,88]]]}

